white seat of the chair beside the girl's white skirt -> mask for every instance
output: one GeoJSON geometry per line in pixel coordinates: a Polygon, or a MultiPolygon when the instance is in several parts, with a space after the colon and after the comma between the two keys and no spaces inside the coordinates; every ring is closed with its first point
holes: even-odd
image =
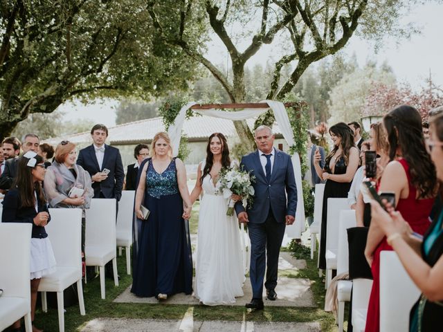
{"type": "Polygon", "coordinates": [[[42,278],[39,284],[39,291],[62,292],[80,279],[82,279],[82,272],[78,268],[57,266],[55,273],[45,275],[42,278]]]}

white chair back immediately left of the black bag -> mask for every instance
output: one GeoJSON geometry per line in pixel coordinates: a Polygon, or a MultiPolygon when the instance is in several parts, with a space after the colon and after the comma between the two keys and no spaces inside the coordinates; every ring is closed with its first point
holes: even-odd
{"type": "Polygon", "coordinates": [[[338,226],[337,275],[349,271],[349,248],[347,246],[347,228],[355,227],[355,210],[341,210],[338,226]]]}

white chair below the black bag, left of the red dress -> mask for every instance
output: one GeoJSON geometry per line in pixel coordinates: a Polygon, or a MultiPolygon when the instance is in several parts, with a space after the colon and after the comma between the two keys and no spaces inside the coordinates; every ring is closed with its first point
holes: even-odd
{"type": "Polygon", "coordinates": [[[352,331],[364,332],[368,314],[369,296],[372,288],[371,279],[352,280],[352,331]]]}

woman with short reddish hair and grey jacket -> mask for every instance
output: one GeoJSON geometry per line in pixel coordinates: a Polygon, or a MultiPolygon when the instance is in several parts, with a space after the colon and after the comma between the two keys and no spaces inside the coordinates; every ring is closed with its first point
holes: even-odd
{"type": "Polygon", "coordinates": [[[91,206],[94,191],[91,186],[91,176],[83,167],[76,165],[76,145],[62,140],[55,149],[55,160],[46,169],[44,192],[48,197],[51,208],[80,208],[82,209],[82,257],[84,257],[85,209],[91,206]],[[78,188],[81,195],[70,194],[73,187],[78,188]]]}

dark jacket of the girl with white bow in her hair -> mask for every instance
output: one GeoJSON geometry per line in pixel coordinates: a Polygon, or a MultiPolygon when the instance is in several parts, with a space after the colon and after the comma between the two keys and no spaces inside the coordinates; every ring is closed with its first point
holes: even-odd
{"type": "MultiPolygon", "coordinates": [[[[37,210],[39,212],[48,212],[48,205],[42,201],[37,201],[37,210]]],[[[3,199],[3,212],[1,216],[1,222],[3,223],[32,223],[33,233],[32,237],[37,239],[44,239],[48,237],[44,226],[35,225],[33,219],[37,216],[35,207],[33,206],[21,206],[21,199],[19,190],[14,188],[8,191],[3,199]]],[[[49,215],[48,222],[51,221],[51,215],[49,215]]]]}

